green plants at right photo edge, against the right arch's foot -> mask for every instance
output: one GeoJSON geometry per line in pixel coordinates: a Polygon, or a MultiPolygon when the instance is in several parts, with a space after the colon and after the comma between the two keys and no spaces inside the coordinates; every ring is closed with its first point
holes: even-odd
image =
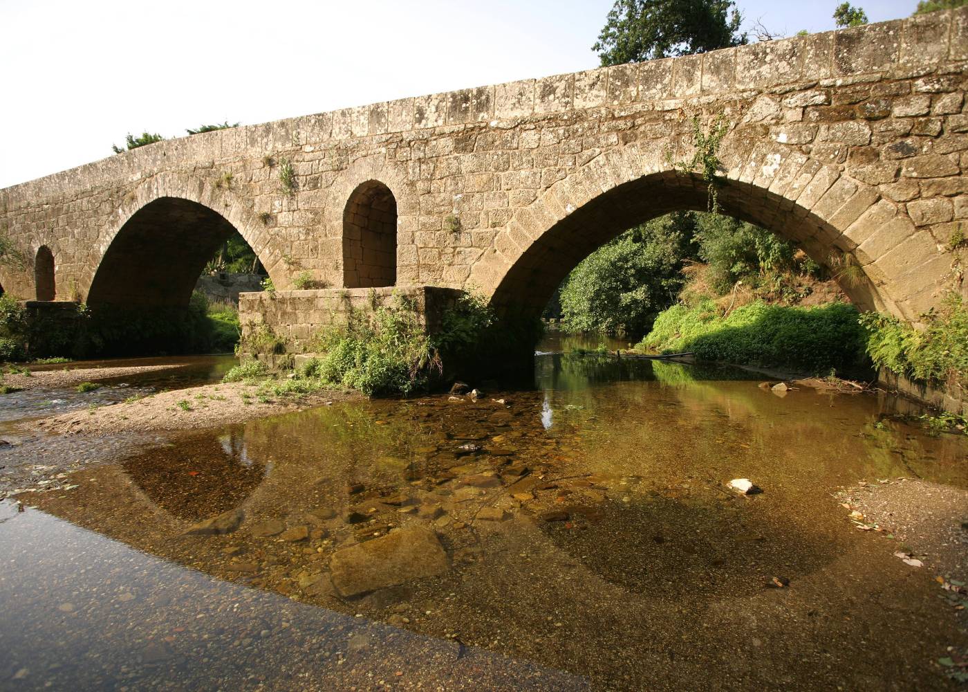
{"type": "Polygon", "coordinates": [[[968,389],[968,305],[950,293],[922,320],[924,329],[916,330],[895,317],[865,313],[867,354],[896,375],[968,389]]]}

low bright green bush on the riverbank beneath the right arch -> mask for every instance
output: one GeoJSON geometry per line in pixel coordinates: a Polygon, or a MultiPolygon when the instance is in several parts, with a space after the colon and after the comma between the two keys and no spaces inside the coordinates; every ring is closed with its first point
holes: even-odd
{"type": "Polygon", "coordinates": [[[661,313],[639,348],[826,374],[862,364],[865,332],[858,317],[856,307],[842,302],[797,307],[756,300],[724,313],[712,299],[703,299],[661,313]]]}

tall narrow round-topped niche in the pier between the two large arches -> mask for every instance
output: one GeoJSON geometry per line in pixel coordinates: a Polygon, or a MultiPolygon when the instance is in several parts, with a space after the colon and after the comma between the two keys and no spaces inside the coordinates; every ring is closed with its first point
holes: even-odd
{"type": "Polygon", "coordinates": [[[377,288],[397,282],[397,200],[378,180],[349,195],[343,212],[343,285],[377,288]]]}

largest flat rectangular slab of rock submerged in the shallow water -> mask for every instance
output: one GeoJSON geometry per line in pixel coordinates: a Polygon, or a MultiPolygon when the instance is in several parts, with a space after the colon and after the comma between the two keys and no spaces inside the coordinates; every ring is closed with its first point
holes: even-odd
{"type": "Polygon", "coordinates": [[[348,597],[435,577],[450,569],[450,561],[437,532],[417,525],[337,550],[329,566],[333,586],[348,597]]]}

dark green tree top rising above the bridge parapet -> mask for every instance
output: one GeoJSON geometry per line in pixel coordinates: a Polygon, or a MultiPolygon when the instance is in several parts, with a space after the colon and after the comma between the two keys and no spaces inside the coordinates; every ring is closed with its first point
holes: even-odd
{"type": "Polygon", "coordinates": [[[602,66],[740,46],[733,0],[616,0],[592,50],[602,66]]]}

